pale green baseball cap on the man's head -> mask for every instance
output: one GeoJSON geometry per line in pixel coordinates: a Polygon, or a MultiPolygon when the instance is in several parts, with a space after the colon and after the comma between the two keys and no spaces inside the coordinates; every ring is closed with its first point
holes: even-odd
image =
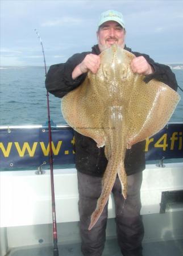
{"type": "Polygon", "coordinates": [[[121,13],[119,13],[119,11],[114,11],[114,10],[107,10],[107,11],[104,11],[103,13],[101,13],[101,16],[100,16],[99,22],[98,22],[98,27],[109,20],[118,22],[120,24],[120,26],[125,28],[123,15],[121,13]]]}

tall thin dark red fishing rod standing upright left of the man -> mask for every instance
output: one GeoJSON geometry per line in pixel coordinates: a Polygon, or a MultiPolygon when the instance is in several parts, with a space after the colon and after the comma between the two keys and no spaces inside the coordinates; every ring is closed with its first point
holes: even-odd
{"type": "MultiPolygon", "coordinates": [[[[40,38],[38,31],[35,29],[36,34],[41,43],[43,57],[44,57],[44,69],[45,77],[47,77],[47,67],[45,64],[44,48],[43,42],[40,38]]],[[[47,110],[48,110],[48,134],[49,134],[49,166],[51,175],[51,192],[52,192],[52,219],[53,219],[53,256],[59,256],[59,249],[57,245],[57,225],[56,225],[56,210],[55,210],[55,189],[54,189],[54,179],[53,179],[53,151],[52,151],[52,132],[51,132],[51,121],[50,121],[50,111],[49,111],[49,93],[47,90],[47,110]]]]}

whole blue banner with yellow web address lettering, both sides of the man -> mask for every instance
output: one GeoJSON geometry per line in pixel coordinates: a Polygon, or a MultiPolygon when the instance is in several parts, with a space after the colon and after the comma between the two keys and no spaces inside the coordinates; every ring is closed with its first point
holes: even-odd
{"type": "MultiPolygon", "coordinates": [[[[183,158],[183,123],[170,123],[155,136],[146,139],[145,159],[183,158]]],[[[70,127],[52,127],[54,164],[74,163],[74,136],[70,127]]],[[[49,163],[48,129],[1,129],[0,168],[38,167],[49,163]]]]}

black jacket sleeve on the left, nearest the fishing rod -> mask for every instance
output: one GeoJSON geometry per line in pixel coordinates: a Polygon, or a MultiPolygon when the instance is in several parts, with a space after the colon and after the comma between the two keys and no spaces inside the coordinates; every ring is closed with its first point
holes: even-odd
{"type": "Polygon", "coordinates": [[[48,92],[61,98],[77,88],[85,80],[87,73],[82,74],[77,79],[72,79],[72,72],[87,54],[88,52],[77,53],[70,57],[66,63],[52,65],[45,79],[45,87],[48,92]]]}

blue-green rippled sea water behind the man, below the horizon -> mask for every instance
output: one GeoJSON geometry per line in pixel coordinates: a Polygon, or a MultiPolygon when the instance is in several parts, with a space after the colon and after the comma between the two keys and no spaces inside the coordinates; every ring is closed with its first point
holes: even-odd
{"type": "MultiPolygon", "coordinates": [[[[177,66],[180,67],[180,66],[177,66]]],[[[183,89],[183,69],[172,69],[183,89]]],[[[44,125],[47,121],[47,97],[44,67],[0,68],[0,125],[44,125]]],[[[183,93],[170,122],[183,122],[183,93]]],[[[65,124],[61,100],[49,94],[51,119],[65,124]]]]}

